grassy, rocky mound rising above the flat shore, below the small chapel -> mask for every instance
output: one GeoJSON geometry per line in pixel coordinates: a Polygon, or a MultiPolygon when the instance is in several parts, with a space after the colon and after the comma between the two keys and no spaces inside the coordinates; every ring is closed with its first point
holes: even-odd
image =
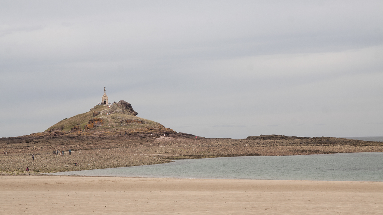
{"type": "Polygon", "coordinates": [[[49,127],[44,133],[77,135],[121,135],[121,134],[177,134],[148,119],[137,117],[131,104],[119,101],[110,105],[101,104],[83,114],[63,119],[49,127]]]}

